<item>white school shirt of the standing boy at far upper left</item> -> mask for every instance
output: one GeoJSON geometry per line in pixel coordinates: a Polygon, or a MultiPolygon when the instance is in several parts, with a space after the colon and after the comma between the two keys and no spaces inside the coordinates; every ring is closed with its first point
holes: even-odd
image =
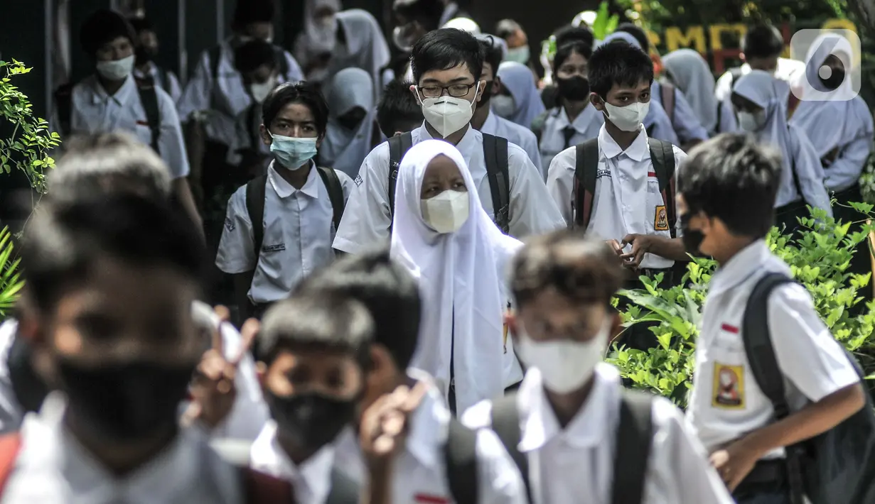
{"type": "MultiPolygon", "coordinates": [[[[158,137],[158,154],[170,169],[173,179],[188,176],[188,156],[186,142],[182,138],[182,127],[176,106],[165,90],[156,87],[158,115],[161,135],[158,137]]],[[[70,134],[111,133],[126,131],[137,137],[145,145],[151,145],[152,131],[146,112],[140,101],[137,81],[132,75],[125,79],[116,94],[109,96],[94,75],[73,86],[70,111],[70,134]]],[[[52,115],[52,128],[57,131],[58,110],[52,115]]],[[[62,146],[63,148],[63,146],[62,146]]]]}

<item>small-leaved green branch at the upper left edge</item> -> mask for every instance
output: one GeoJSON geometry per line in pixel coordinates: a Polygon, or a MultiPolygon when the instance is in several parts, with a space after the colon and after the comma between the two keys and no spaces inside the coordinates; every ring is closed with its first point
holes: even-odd
{"type": "Polygon", "coordinates": [[[12,135],[0,139],[0,173],[11,173],[13,168],[27,176],[31,187],[45,192],[45,170],[54,167],[48,155],[60,143],[57,133],[50,133],[48,122],[35,117],[31,102],[21,93],[12,79],[30,72],[24,63],[13,59],[0,61],[0,117],[12,124],[12,135]]]}

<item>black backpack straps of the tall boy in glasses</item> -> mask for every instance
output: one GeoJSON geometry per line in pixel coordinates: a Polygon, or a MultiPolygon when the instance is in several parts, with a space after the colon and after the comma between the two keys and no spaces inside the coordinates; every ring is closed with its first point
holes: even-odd
{"type": "MultiPolygon", "coordinates": [[[[388,208],[395,214],[395,185],[398,169],[404,154],[413,147],[413,135],[407,132],[388,139],[389,175],[388,208]]],[[[486,159],[486,176],[492,191],[495,225],[504,234],[510,232],[510,176],[507,171],[507,138],[483,134],[483,155],[486,159]]],[[[390,231],[391,232],[391,231],[390,231]]]]}

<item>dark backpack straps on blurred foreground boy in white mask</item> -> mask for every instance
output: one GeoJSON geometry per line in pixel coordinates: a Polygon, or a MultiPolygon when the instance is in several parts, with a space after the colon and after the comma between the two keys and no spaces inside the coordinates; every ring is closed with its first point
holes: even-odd
{"type": "MultiPolygon", "coordinates": [[[[622,391],[620,426],[617,428],[613,457],[613,504],[641,504],[643,499],[650,445],[654,436],[653,402],[652,394],[638,390],[622,391]]],[[[528,502],[534,502],[528,481],[528,458],[518,448],[521,431],[516,394],[493,401],[492,428],[520,470],[526,484],[528,502]]]]}

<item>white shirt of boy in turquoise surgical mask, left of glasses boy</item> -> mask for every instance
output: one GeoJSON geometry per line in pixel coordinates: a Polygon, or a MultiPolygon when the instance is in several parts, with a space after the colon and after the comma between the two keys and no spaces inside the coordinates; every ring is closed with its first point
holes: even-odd
{"type": "MultiPolygon", "coordinates": [[[[258,254],[253,250],[255,237],[246,208],[246,186],[228,200],[216,266],[229,274],[255,270],[248,292],[255,304],[285,299],[305,276],[334,259],[334,210],[316,165],[311,162],[310,166],[307,181],[297,190],[277,173],[284,168],[270,163],[265,181],[262,250],[258,254]]],[[[335,173],[346,199],[353,181],[341,171],[335,173]]],[[[349,205],[346,211],[350,211],[349,205]]]]}

